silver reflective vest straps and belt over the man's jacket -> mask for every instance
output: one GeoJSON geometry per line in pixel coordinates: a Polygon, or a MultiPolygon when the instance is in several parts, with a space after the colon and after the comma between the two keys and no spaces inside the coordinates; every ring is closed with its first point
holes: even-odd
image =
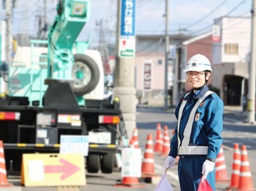
{"type": "MultiPolygon", "coordinates": [[[[180,106],[180,109],[179,109],[178,127],[177,127],[178,147],[179,147],[178,148],[178,154],[179,155],[184,155],[184,154],[207,154],[207,152],[208,152],[208,147],[207,146],[196,146],[196,145],[189,146],[189,140],[190,140],[190,135],[191,135],[192,127],[193,127],[193,122],[194,122],[194,118],[195,118],[196,109],[199,107],[200,103],[203,102],[203,100],[207,96],[209,96],[211,93],[214,93],[214,92],[211,92],[211,91],[205,92],[204,96],[198,99],[198,101],[195,103],[193,109],[191,110],[191,112],[189,114],[188,123],[186,123],[186,127],[185,127],[185,130],[184,130],[184,133],[183,133],[184,138],[182,140],[182,145],[180,145],[179,129],[180,129],[181,116],[183,114],[183,109],[186,105],[187,100],[183,100],[183,102],[181,103],[181,106],[180,106]]],[[[188,96],[188,94],[189,93],[187,93],[186,96],[188,96]]]]}

